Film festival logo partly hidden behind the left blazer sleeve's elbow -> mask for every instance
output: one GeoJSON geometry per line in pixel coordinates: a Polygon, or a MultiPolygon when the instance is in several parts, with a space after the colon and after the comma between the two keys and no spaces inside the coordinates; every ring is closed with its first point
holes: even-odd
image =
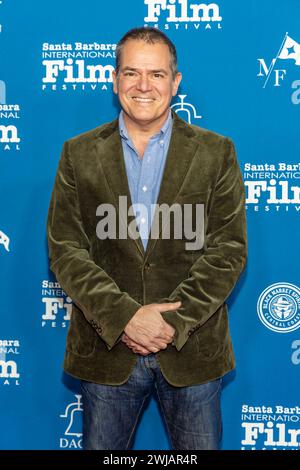
{"type": "Polygon", "coordinates": [[[72,299],[58,282],[42,281],[43,328],[66,328],[72,311],[72,299]]]}

